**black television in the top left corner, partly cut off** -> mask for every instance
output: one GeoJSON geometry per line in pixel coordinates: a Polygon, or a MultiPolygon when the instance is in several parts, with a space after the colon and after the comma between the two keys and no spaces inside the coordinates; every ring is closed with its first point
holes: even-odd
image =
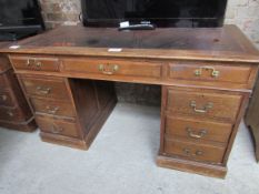
{"type": "Polygon", "coordinates": [[[38,0],[0,0],[0,41],[18,40],[43,29],[38,0]]]}

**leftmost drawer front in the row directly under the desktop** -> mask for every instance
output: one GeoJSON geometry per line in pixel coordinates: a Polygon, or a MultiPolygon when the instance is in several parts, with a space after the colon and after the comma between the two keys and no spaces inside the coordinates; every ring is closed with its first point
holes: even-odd
{"type": "Polygon", "coordinates": [[[17,70],[59,71],[59,60],[56,58],[11,55],[10,61],[17,70]]]}

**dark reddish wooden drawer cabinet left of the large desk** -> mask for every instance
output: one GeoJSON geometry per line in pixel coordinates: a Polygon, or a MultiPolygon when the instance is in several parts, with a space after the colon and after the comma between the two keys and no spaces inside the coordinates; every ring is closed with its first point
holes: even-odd
{"type": "Polygon", "coordinates": [[[32,111],[6,55],[0,57],[0,126],[26,132],[37,129],[32,111]]]}

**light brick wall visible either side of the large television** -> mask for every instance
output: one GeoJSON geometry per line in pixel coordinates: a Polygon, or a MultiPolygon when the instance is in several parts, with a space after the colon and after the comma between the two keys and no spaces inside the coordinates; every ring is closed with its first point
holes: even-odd
{"type": "MultiPolygon", "coordinates": [[[[39,0],[48,28],[77,23],[80,0],[39,0]]],[[[226,23],[237,24],[259,48],[259,0],[229,0],[226,23]]]]}

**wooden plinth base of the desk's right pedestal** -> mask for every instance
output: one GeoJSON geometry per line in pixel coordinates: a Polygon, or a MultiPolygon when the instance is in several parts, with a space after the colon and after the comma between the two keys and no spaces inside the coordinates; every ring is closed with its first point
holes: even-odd
{"type": "Polygon", "coordinates": [[[160,167],[168,167],[219,178],[225,178],[227,174],[227,167],[225,166],[203,164],[182,159],[175,159],[161,154],[159,154],[157,157],[157,165],[160,167]]]}

